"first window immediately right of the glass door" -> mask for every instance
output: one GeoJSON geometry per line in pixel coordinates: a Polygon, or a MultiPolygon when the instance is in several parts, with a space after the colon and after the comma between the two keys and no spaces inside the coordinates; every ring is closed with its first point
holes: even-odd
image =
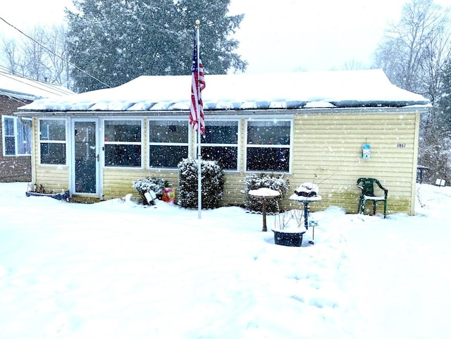
{"type": "Polygon", "coordinates": [[[104,130],[105,166],[142,166],[142,121],[109,120],[104,130]]]}

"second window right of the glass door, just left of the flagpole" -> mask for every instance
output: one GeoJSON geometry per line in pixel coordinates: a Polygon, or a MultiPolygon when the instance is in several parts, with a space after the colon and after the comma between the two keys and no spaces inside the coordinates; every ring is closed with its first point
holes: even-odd
{"type": "Polygon", "coordinates": [[[177,168],[188,157],[186,121],[149,121],[149,167],[177,168]]]}

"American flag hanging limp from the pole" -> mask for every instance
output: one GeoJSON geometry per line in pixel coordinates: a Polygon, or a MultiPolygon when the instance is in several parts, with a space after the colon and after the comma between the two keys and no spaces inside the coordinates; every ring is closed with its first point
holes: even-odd
{"type": "Polygon", "coordinates": [[[204,104],[202,102],[202,90],[205,88],[204,66],[202,66],[200,58],[199,63],[197,63],[197,38],[195,34],[191,71],[190,125],[192,125],[192,128],[194,128],[195,131],[197,131],[200,126],[200,132],[202,135],[205,135],[204,104]],[[198,64],[199,68],[197,68],[198,64]]]}

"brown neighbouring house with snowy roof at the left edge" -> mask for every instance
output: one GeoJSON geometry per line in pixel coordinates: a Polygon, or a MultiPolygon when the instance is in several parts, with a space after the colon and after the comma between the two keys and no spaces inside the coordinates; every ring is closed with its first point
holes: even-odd
{"type": "Polygon", "coordinates": [[[0,72],[0,182],[31,180],[31,119],[14,116],[36,99],[73,94],[58,85],[0,72]]]}

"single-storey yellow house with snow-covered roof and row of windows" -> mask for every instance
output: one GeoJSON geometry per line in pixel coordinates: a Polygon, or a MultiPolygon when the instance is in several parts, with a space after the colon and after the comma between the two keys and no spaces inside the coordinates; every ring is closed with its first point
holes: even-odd
{"type": "MultiPolygon", "coordinates": [[[[16,115],[32,119],[33,180],[94,199],[135,193],[132,181],[153,175],[177,187],[177,164],[195,149],[190,86],[189,75],[142,76],[20,107],[16,115]]],[[[388,188],[389,213],[414,214],[430,102],[382,70],[206,75],[202,97],[202,159],[225,169],[224,204],[242,204],[248,173],[285,173],[292,190],[319,185],[314,209],[356,212],[356,180],[373,177],[388,188]]]]}

